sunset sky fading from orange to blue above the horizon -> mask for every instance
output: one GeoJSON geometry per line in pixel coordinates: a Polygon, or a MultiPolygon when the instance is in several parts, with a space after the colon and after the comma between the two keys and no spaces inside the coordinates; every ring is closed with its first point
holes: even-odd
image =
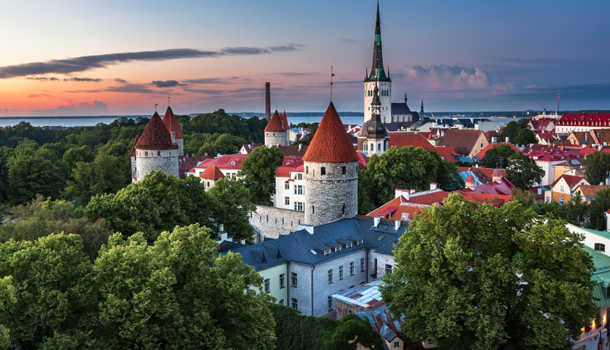
{"type": "MultiPolygon", "coordinates": [[[[363,111],[376,1],[0,0],[0,117],[363,111]]],[[[393,102],[610,109],[610,1],[380,0],[393,102]]]]}

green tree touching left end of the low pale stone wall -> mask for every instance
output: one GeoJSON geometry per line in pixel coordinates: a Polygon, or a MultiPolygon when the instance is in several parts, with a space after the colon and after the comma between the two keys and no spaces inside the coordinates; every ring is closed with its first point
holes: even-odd
{"type": "Polygon", "coordinates": [[[216,219],[236,239],[247,239],[253,243],[254,228],[250,225],[250,213],[256,210],[250,191],[235,178],[216,181],[208,194],[218,201],[220,208],[216,219]]]}

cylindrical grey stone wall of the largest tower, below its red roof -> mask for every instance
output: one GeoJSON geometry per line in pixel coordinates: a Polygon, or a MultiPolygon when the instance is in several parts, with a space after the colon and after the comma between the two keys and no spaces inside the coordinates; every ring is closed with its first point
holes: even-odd
{"type": "Polygon", "coordinates": [[[305,224],[324,225],[357,213],[357,162],[305,162],[305,224]]]}

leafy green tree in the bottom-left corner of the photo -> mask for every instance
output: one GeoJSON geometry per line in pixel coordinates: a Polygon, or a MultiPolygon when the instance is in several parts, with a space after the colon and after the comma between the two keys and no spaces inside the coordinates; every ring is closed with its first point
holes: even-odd
{"type": "Polygon", "coordinates": [[[92,265],[77,235],[49,235],[0,244],[0,278],[12,276],[16,303],[5,305],[0,324],[15,349],[78,343],[96,323],[92,265]]]}

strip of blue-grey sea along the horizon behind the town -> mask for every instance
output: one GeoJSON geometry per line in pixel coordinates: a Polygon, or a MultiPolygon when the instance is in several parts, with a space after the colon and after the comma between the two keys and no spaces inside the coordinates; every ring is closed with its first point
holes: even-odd
{"type": "MultiPolygon", "coordinates": [[[[239,115],[243,118],[251,118],[251,117],[260,117],[264,118],[265,113],[255,113],[255,112],[227,112],[228,114],[239,115]]],[[[199,113],[190,114],[191,116],[196,116],[199,113]]],[[[437,113],[438,115],[442,115],[442,113],[437,113]]],[[[299,113],[286,113],[288,117],[288,121],[291,124],[299,124],[299,123],[319,123],[324,116],[324,112],[299,112],[299,113]]],[[[50,127],[50,126],[61,126],[61,127],[79,127],[79,126],[94,126],[99,123],[110,124],[114,120],[125,117],[125,118],[137,118],[137,117],[147,117],[150,118],[149,115],[104,115],[104,116],[95,116],[95,117],[86,117],[86,116],[74,116],[74,117],[0,117],[0,127],[6,127],[11,125],[16,125],[19,122],[25,121],[30,123],[32,126],[37,127],[50,127]]],[[[341,117],[341,121],[343,124],[362,124],[364,119],[364,113],[362,112],[339,112],[339,116],[341,117]]],[[[462,116],[460,116],[462,117],[462,116]]],[[[513,120],[513,118],[487,118],[492,121],[497,121],[500,125],[504,125],[509,121],[513,120]]]]}

